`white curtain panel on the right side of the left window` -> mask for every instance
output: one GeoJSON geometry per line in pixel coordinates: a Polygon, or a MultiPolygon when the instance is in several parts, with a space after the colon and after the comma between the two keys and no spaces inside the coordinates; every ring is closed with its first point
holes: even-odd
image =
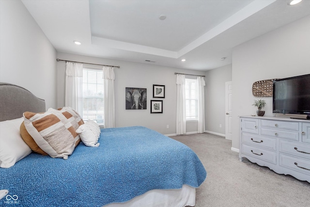
{"type": "Polygon", "coordinates": [[[111,66],[103,66],[104,88],[104,119],[105,128],[115,127],[115,96],[114,96],[114,68],[111,66]]]}

